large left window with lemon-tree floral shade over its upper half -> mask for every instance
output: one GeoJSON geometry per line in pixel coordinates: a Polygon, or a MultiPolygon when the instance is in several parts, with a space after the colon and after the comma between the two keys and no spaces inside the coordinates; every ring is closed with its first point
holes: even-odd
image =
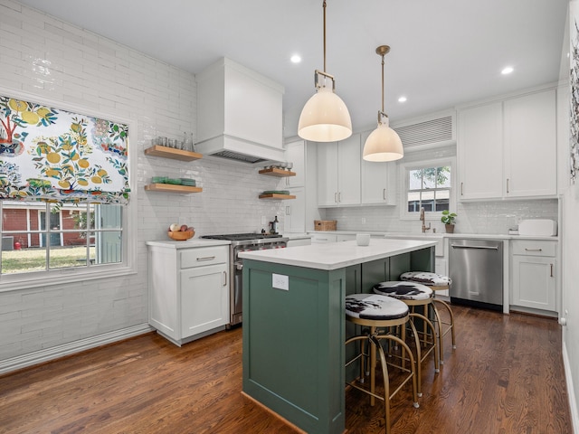
{"type": "Polygon", "coordinates": [[[0,95],[0,290],[62,269],[127,267],[128,131],[0,95]]]}

